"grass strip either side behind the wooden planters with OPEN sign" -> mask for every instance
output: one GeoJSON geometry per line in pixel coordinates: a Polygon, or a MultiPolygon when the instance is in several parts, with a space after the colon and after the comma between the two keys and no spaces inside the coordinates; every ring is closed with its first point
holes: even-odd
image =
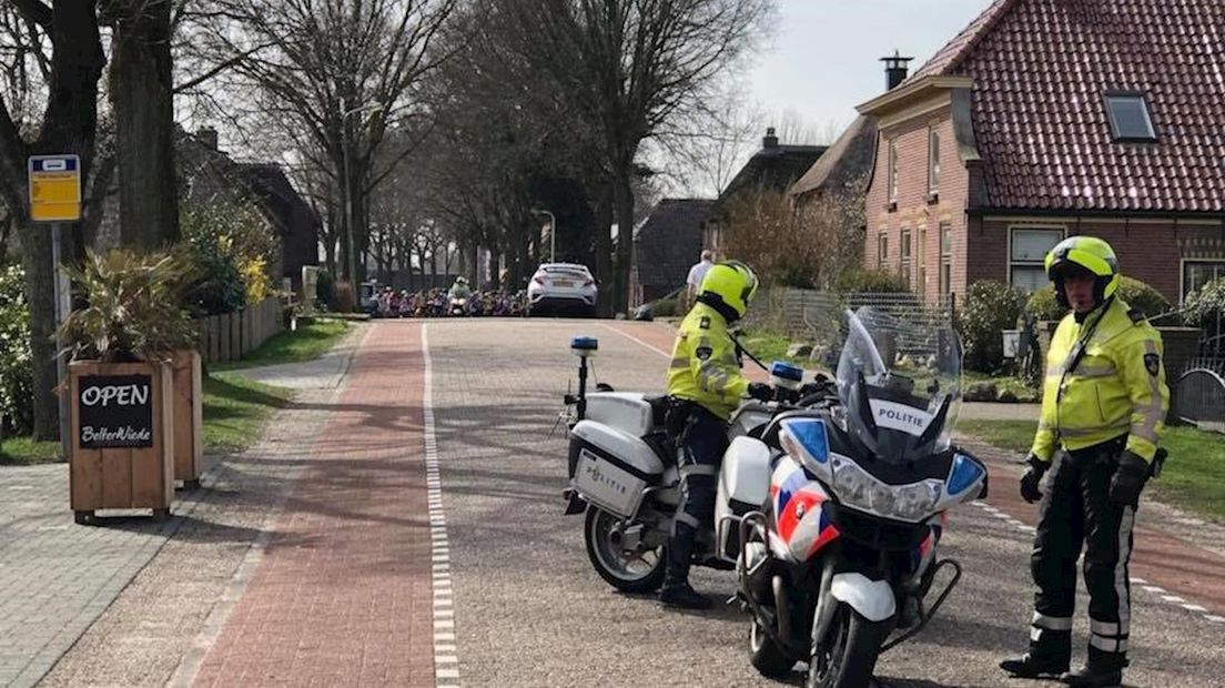
{"type": "MultiPolygon", "coordinates": [[[[270,387],[239,376],[205,378],[205,451],[240,452],[263,435],[272,414],[283,408],[289,389],[270,387]]],[[[36,465],[60,460],[59,442],[12,437],[0,444],[0,465],[36,465]]]]}

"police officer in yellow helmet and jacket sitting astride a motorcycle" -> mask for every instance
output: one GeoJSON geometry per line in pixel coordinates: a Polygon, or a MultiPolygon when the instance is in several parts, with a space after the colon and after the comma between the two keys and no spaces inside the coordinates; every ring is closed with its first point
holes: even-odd
{"type": "Polygon", "coordinates": [[[688,584],[693,540],[714,513],[719,463],[728,448],[726,421],[748,394],[768,399],[771,387],[740,373],[736,343],[728,326],[744,317],[757,291],[757,277],[736,261],[717,263],[702,279],[697,302],[681,321],[668,371],[673,399],[668,425],[680,451],[681,499],[673,522],[668,568],[659,600],[692,610],[710,600],[688,584]]]}

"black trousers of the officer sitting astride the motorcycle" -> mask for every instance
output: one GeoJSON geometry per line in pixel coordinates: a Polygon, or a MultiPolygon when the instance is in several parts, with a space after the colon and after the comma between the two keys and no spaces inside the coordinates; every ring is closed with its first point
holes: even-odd
{"type": "Polygon", "coordinates": [[[698,530],[714,518],[719,465],[728,451],[728,425],[722,419],[697,404],[684,402],[673,413],[684,415],[675,422],[681,495],[668,545],[664,585],[688,581],[693,542],[698,530]]]}

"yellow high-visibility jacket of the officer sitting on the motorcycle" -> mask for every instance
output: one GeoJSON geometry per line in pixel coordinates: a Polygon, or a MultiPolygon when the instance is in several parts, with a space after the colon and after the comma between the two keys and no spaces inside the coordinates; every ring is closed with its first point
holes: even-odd
{"type": "Polygon", "coordinates": [[[719,311],[698,302],[676,329],[668,393],[726,420],[747,391],[748,381],[740,373],[728,321],[719,311]]]}

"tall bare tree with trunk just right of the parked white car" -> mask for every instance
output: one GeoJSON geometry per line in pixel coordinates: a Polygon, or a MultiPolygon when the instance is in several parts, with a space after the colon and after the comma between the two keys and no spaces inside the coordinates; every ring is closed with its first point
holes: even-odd
{"type": "Polygon", "coordinates": [[[771,0],[489,0],[518,54],[597,132],[617,224],[612,306],[628,302],[641,143],[691,111],[758,34],[771,0]]]}

